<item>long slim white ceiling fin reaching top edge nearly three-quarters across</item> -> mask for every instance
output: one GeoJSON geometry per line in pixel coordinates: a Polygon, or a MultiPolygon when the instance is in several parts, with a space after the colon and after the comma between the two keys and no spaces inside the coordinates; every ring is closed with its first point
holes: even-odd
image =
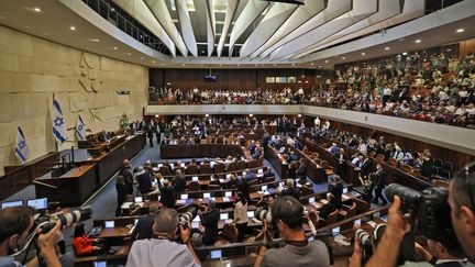
{"type": "Polygon", "coordinates": [[[290,41],[298,38],[313,29],[323,25],[324,23],[338,18],[341,14],[344,14],[345,12],[349,12],[352,10],[352,0],[329,1],[327,8],[323,11],[319,12],[310,20],[307,20],[303,24],[299,25],[297,29],[294,29],[286,36],[281,37],[278,42],[261,53],[261,59],[268,56],[272,52],[289,43],[290,41]]]}

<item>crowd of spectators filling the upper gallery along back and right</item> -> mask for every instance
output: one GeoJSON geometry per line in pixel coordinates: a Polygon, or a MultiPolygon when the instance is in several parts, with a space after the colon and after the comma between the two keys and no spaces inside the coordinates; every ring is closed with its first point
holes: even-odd
{"type": "MultiPolygon", "coordinates": [[[[280,92],[210,91],[195,88],[196,93],[180,89],[152,89],[151,99],[167,96],[166,103],[220,104],[316,104],[404,116],[437,123],[475,127],[475,59],[471,53],[456,56],[434,53],[402,54],[373,63],[353,63],[336,70],[336,85],[347,90],[311,90],[284,88],[280,92]],[[449,62],[451,67],[449,67],[449,62]],[[412,89],[411,89],[412,88],[412,89]],[[189,101],[194,99],[194,101],[189,101]],[[198,101],[197,101],[198,100],[198,101]]],[[[285,123],[278,129],[286,131],[285,123]]],[[[280,133],[280,132],[279,132],[280,133]]]]}

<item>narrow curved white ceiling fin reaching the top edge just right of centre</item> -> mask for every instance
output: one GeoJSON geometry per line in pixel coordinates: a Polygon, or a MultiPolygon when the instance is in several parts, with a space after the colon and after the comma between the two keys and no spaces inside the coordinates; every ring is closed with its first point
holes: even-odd
{"type": "Polygon", "coordinates": [[[261,15],[261,13],[269,5],[267,1],[248,1],[234,23],[231,31],[229,54],[232,55],[234,44],[244,31],[261,15]]]}

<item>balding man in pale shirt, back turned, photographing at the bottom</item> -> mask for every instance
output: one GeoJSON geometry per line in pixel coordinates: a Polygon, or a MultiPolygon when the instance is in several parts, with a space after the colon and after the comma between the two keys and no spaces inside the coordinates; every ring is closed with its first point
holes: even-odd
{"type": "Polygon", "coordinates": [[[178,213],[163,209],[155,215],[153,233],[156,238],[135,241],[129,252],[128,267],[200,266],[190,241],[190,227],[178,223],[178,213]],[[184,245],[176,243],[179,229],[184,245]]]}

